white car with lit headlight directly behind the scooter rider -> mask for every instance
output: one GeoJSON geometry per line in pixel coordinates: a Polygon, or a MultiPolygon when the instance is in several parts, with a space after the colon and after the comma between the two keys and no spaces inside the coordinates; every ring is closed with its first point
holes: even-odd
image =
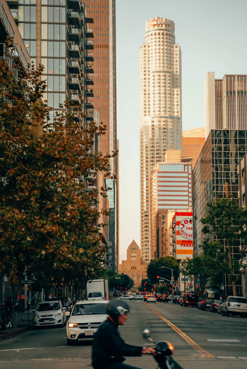
{"type": "MultiPolygon", "coordinates": [[[[67,345],[92,339],[99,326],[107,319],[108,300],[78,301],[66,325],[67,345]]],[[[69,315],[69,312],[66,313],[69,315]]]]}

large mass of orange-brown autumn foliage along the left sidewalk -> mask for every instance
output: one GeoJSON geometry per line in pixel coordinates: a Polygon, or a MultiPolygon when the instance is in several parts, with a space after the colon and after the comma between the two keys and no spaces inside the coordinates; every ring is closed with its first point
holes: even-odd
{"type": "Polygon", "coordinates": [[[42,67],[15,69],[18,79],[0,60],[0,272],[13,283],[34,276],[37,288],[51,280],[83,285],[102,272],[106,253],[98,193],[83,179],[111,177],[116,153],[92,150],[105,126],[80,127],[74,117],[83,114],[69,104],[49,120],[42,67]]]}

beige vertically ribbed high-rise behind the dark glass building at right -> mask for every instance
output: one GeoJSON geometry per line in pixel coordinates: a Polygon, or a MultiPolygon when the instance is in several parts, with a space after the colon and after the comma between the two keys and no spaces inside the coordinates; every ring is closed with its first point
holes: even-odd
{"type": "Polygon", "coordinates": [[[206,138],[211,129],[247,129],[247,74],[207,74],[206,138]]]}

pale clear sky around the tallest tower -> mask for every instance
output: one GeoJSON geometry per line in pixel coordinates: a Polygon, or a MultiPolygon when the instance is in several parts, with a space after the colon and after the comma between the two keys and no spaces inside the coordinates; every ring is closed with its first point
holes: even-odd
{"type": "Polygon", "coordinates": [[[174,21],[181,47],[183,130],[205,126],[208,72],[247,74],[246,0],[116,0],[120,262],[140,246],[139,48],[156,16],[174,21]]]}

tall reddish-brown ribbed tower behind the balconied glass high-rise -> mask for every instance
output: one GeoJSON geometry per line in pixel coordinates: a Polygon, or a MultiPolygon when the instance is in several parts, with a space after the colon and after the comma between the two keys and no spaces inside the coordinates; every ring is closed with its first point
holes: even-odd
{"type": "MultiPolygon", "coordinates": [[[[93,106],[99,113],[99,122],[103,122],[107,131],[99,137],[99,151],[104,154],[118,149],[117,108],[116,108],[116,0],[83,0],[87,16],[93,18],[94,28],[94,74],[92,86],[93,106]]],[[[116,181],[108,181],[112,190],[110,196],[109,250],[108,262],[111,269],[118,270],[119,254],[119,182],[118,157],[111,158],[112,173],[116,181]],[[111,185],[112,184],[112,185],[111,185]],[[114,196],[113,193],[115,193],[114,196]]],[[[101,181],[102,182],[102,181],[101,181]]]]}

